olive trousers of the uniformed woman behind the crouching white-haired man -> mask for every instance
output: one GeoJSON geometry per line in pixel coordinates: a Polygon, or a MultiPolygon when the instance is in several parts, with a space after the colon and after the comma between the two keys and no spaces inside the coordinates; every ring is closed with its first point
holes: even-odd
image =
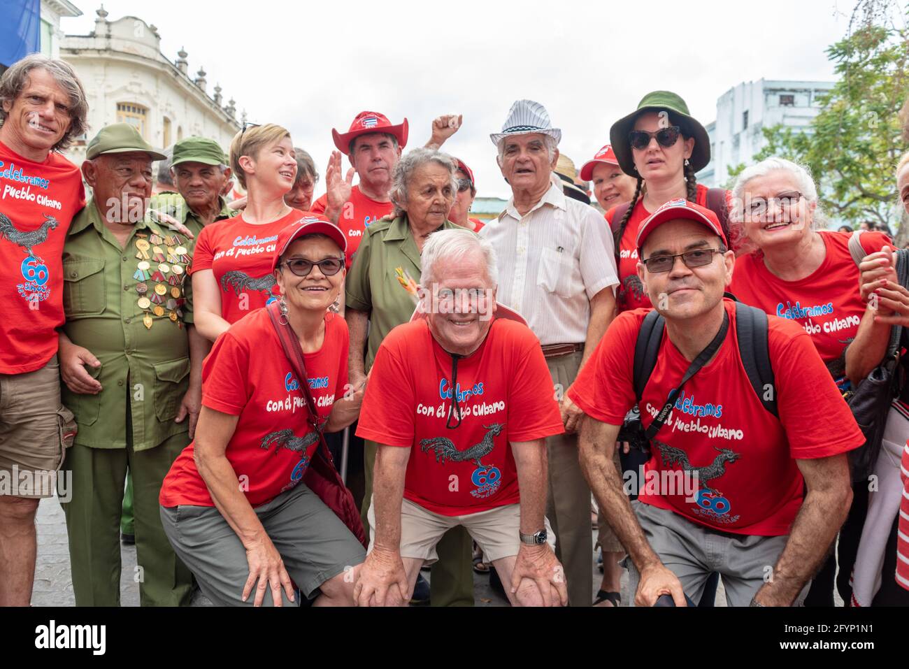
{"type": "MultiPolygon", "coordinates": [[[[366,512],[373,499],[373,469],[378,444],[365,440],[363,459],[365,465],[365,494],[363,495],[363,526],[369,538],[369,521],[366,512]]],[[[443,534],[435,546],[439,560],[429,575],[429,597],[433,606],[474,605],[474,546],[464,527],[453,527],[443,534]]]]}

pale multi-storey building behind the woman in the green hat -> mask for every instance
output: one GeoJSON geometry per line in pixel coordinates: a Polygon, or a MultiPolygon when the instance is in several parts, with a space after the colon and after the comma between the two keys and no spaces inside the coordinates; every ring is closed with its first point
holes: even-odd
{"type": "Polygon", "coordinates": [[[754,164],[754,154],[766,145],[764,128],[782,124],[810,132],[821,111],[821,96],[833,88],[824,81],[743,82],[716,100],[716,120],[706,126],[710,135],[710,163],[697,175],[700,183],[722,186],[729,167],[754,164]]]}

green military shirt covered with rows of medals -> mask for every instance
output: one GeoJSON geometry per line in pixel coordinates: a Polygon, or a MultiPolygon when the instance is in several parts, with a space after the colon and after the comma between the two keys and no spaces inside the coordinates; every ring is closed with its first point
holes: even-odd
{"type": "Polygon", "coordinates": [[[121,247],[94,201],[73,219],[63,254],[63,330],[101,362],[85,371],[102,385],[93,395],[63,384],[63,402],[79,425],[76,444],[125,448],[127,401],[136,451],[187,431],[188,421],[174,419],[189,387],[190,259],[185,236],[145,222],[121,247]]]}

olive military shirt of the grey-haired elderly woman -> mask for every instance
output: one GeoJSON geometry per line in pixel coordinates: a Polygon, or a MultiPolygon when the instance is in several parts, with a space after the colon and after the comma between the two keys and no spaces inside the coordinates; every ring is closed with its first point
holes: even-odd
{"type": "MultiPolygon", "coordinates": [[[[451,221],[439,228],[460,229],[451,221]]],[[[420,252],[407,216],[386,216],[367,225],[345,281],[346,305],[369,313],[366,371],[373,366],[385,335],[414,314],[415,285],[419,283],[420,252]]]]}

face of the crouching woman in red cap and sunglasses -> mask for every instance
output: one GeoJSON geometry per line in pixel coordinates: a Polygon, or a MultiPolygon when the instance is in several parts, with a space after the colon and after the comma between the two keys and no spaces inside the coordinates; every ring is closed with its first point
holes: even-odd
{"type": "Polygon", "coordinates": [[[285,296],[287,308],[303,311],[324,312],[338,295],[344,283],[344,254],[338,245],[325,236],[296,239],[281,256],[281,265],[275,270],[281,295],[285,296]],[[303,259],[318,263],[329,258],[341,259],[341,271],[325,275],[319,265],[313,265],[308,275],[295,275],[284,265],[288,260],[303,259]]]}

